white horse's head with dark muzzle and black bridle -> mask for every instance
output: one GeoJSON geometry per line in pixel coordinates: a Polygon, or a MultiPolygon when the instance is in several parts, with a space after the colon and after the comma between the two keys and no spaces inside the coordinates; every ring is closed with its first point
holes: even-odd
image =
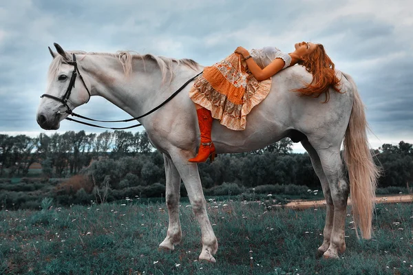
{"type": "Polygon", "coordinates": [[[41,96],[37,109],[37,123],[45,130],[59,129],[61,120],[90,98],[90,88],[81,76],[76,56],[65,52],[54,43],[57,53],[50,47],[53,61],[50,64],[46,93],[41,96]]]}

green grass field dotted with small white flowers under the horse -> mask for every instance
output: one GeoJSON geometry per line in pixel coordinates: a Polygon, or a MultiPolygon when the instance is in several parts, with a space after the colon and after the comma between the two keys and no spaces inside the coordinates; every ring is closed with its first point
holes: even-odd
{"type": "Polygon", "coordinates": [[[183,239],[172,253],[157,250],[167,231],[165,204],[2,210],[0,274],[413,274],[411,203],[378,205],[370,241],[357,240],[348,215],[340,260],[315,259],[325,208],[207,204],[220,245],[215,264],[197,261],[200,228],[188,203],[180,206],[183,239]]]}

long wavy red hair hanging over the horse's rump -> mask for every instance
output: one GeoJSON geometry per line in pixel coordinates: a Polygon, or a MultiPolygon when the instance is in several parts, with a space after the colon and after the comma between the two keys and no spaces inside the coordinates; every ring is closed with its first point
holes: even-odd
{"type": "Polygon", "coordinates": [[[293,91],[301,93],[301,96],[311,96],[313,98],[326,94],[326,100],[323,103],[330,100],[330,87],[341,93],[338,87],[340,80],[335,75],[335,65],[326,54],[323,45],[317,44],[315,50],[304,57],[302,61],[299,61],[299,64],[304,65],[307,72],[313,74],[313,80],[306,87],[294,89],[293,91]]]}

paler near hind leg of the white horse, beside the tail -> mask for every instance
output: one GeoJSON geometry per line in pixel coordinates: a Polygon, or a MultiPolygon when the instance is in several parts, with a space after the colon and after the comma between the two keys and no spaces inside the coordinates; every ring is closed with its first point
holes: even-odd
{"type": "Polygon", "coordinates": [[[346,250],[344,228],[350,185],[344,177],[340,146],[330,146],[327,148],[317,148],[315,146],[315,148],[323,166],[324,174],[328,179],[328,186],[330,186],[332,203],[334,205],[330,246],[324,252],[324,258],[339,258],[339,253],[343,253],[346,250]]]}

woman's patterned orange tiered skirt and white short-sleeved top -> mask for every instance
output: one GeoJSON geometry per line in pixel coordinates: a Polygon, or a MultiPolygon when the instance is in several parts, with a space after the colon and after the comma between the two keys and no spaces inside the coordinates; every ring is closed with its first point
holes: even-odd
{"type": "MultiPolygon", "coordinates": [[[[251,57],[262,69],[275,58],[291,63],[288,54],[276,47],[264,47],[250,51],[251,57]]],[[[189,97],[196,104],[209,109],[212,117],[229,129],[241,131],[246,126],[246,115],[262,102],[271,89],[271,78],[257,81],[242,64],[240,54],[231,54],[223,61],[204,68],[204,73],[195,80],[189,97]]]]}

